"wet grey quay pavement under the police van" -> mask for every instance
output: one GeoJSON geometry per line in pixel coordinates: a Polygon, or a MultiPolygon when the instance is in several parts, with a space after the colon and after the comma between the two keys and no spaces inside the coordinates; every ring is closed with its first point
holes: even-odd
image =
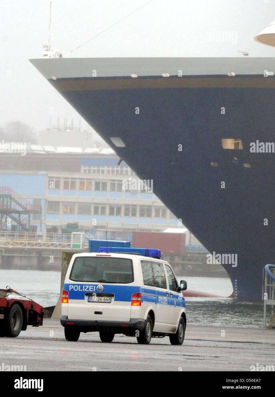
{"type": "Polygon", "coordinates": [[[15,339],[0,338],[0,355],[5,364],[26,365],[27,371],[249,372],[257,363],[274,371],[275,331],[187,325],[182,346],[172,346],[168,337],[138,345],[123,335],[107,344],[98,333],[67,342],[59,320],[44,320],[42,327],[28,326],[15,339]]]}

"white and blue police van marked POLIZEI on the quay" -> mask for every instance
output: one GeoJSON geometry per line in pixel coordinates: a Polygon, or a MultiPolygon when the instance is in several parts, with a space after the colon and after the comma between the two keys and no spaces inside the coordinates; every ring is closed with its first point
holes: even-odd
{"type": "Polygon", "coordinates": [[[172,345],[182,345],[187,283],[178,285],[160,255],[158,249],[119,247],[74,254],[62,293],[67,341],[77,341],[80,332],[99,331],[102,342],[122,333],[138,343],[169,336],[172,345]]]}

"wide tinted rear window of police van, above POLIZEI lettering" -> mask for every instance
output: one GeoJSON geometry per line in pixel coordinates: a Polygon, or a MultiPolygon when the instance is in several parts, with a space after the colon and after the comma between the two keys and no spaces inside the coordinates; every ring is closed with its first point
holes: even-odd
{"type": "Polygon", "coordinates": [[[70,279],[98,283],[132,283],[133,263],[127,258],[79,256],[73,263],[70,279]]]}

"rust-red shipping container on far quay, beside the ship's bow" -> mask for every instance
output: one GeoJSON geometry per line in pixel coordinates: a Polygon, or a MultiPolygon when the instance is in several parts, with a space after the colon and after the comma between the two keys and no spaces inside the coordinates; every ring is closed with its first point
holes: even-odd
{"type": "Polygon", "coordinates": [[[185,254],[185,234],[133,231],[132,247],[157,248],[163,254],[185,254]]]}

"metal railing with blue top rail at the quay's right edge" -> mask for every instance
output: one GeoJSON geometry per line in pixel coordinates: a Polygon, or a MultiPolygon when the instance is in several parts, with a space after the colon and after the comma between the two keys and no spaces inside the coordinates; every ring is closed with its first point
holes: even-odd
{"type": "Polygon", "coordinates": [[[263,268],[263,328],[275,328],[275,265],[263,268]]]}

